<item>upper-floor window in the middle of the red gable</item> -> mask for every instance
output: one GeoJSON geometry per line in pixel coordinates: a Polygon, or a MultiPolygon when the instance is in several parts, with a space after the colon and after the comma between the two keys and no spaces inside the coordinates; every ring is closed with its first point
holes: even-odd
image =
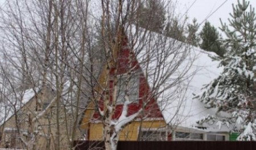
{"type": "Polygon", "coordinates": [[[139,78],[137,74],[118,76],[117,104],[125,102],[125,92],[129,95],[129,101],[137,101],[139,98],[139,78]],[[127,84],[127,87],[126,87],[127,84]]]}

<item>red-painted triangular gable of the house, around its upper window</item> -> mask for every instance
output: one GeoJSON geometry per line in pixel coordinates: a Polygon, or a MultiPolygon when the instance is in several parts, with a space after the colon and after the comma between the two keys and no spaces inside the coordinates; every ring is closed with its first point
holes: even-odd
{"type": "MultiPolygon", "coordinates": [[[[163,118],[162,113],[159,109],[158,104],[156,103],[156,100],[154,97],[149,99],[150,96],[150,87],[147,83],[147,80],[142,72],[142,69],[139,65],[139,62],[137,61],[135,55],[133,52],[130,52],[130,49],[127,46],[127,42],[123,42],[123,49],[120,50],[118,53],[118,68],[117,68],[117,74],[126,74],[129,71],[129,66],[131,68],[134,68],[133,71],[139,72],[139,100],[138,102],[134,102],[128,106],[128,116],[131,114],[134,114],[138,112],[139,109],[142,108],[143,104],[145,104],[145,101],[147,101],[147,105],[145,106],[142,115],[139,116],[140,118],[163,118]],[[133,58],[131,61],[131,64],[129,65],[129,53],[132,53],[133,58]]],[[[110,76],[114,74],[114,68],[110,69],[110,76]]],[[[110,80],[110,88],[113,87],[113,80],[110,80]]],[[[110,94],[110,99],[112,98],[110,94]]],[[[103,110],[104,100],[101,98],[99,108],[103,110]]],[[[117,105],[115,108],[115,112],[113,115],[113,119],[118,119],[119,116],[122,113],[123,105],[117,105]]],[[[100,114],[96,111],[93,114],[93,119],[99,119],[100,114]]]]}

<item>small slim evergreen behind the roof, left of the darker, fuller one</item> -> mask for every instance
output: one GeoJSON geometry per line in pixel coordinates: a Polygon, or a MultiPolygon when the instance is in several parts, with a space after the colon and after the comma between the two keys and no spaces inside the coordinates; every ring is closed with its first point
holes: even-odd
{"type": "Polygon", "coordinates": [[[193,19],[192,23],[187,24],[187,43],[193,46],[198,46],[200,38],[197,35],[197,31],[199,29],[199,24],[197,23],[196,18],[193,19]]]}

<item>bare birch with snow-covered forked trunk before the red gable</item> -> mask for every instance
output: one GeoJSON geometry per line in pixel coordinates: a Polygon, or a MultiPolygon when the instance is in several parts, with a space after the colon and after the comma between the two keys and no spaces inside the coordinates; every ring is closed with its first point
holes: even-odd
{"type": "Polygon", "coordinates": [[[104,126],[106,149],[116,149],[122,129],[135,118],[146,117],[148,112],[144,110],[152,101],[157,100],[163,108],[175,101],[178,106],[182,104],[188,79],[193,76],[188,71],[195,55],[191,55],[189,46],[177,40],[138,27],[133,12],[138,9],[139,1],[94,3],[97,5],[102,11],[93,16],[96,27],[101,29],[105,66],[95,81],[90,100],[104,126]],[[139,97],[138,78],[146,79],[148,85],[139,97]],[[129,110],[136,102],[139,109],[129,110]],[[122,105],[119,117],[116,117],[120,111],[117,105],[122,105]]]}

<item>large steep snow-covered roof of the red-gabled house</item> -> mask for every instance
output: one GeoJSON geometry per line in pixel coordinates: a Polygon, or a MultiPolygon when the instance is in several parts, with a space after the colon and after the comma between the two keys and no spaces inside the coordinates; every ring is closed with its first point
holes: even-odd
{"type": "MultiPolygon", "coordinates": [[[[204,84],[222,71],[219,62],[211,58],[217,57],[215,53],[158,33],[145,33],[144,29],[135,29],[133,25],[127,28],[126,34],[130,45],[135,45],[134,53],[168,124],[197,128],[197,121],[207,115],[216,115],[215,109],[208,109],[193,99],[193,94],[198,94],[204,84]]],[[[212,132],[229,131],[215,124],[203,127],[212,132]]]]}

